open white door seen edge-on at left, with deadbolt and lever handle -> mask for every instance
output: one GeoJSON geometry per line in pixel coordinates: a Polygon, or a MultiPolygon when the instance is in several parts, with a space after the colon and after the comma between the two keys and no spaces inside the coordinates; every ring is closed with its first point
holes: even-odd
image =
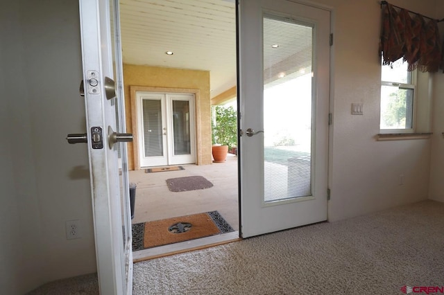
{"type": "Polygon", "coordinates": [[[125,129],[121,47],[120,38],[116,37],[118,5],[118,0],[79,1],[96,262],[100,292],[107,295],[132,294],[133,287],[126,145],[118,143],[122,160],[119,179],[118,145],[109,143],[116,135],[117,139],[128,140],[128,135],[113,132],[125,129]],[[112,80],[117,82],[116,91],[112,89],[112,80]],[[120,114],[119,129],[116,113],[120,114]]]}

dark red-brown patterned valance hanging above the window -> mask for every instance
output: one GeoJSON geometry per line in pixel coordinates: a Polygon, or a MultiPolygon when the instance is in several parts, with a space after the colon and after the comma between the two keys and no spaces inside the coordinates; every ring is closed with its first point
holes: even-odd
{"type": "Polygon", "coordinates": [[[382,1],[381,7],[379,52],[383,64],[391,64],[402,57],[409,64],[409,71],[418,69],[434,73],[444,69],[444,46],[441,46],[438,20],[398,8],[386,1],[382,1]],[[415,16],[411,17],[411,13],[415,16]]]}

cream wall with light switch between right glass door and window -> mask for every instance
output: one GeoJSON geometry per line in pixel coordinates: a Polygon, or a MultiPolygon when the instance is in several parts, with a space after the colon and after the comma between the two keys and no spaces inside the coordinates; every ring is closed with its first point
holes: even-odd
{"type": "MultiPolygon", "coordinates": [[[[329,220],[427,199],[431,140],[375,139],[381,78],[379,1],[318,2],[334,11],[329,220]],[[350,114],[352,102],[364,103],[364,116],[350,114]]],[[[390,3],[434,15],[434,0],[390,3]]]]}

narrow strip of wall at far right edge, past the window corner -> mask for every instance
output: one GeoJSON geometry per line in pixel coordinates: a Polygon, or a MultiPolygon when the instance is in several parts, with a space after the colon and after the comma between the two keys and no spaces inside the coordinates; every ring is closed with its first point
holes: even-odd
{"type": "MultiPolygon", "coordinates": [[[[444,2],[437,1],[438,19],[444,18],[444,2]]],[[[444,24],[440,23],[440,32],[444,32],[444,24]]],[[[443,37],[443,36],[441,36],[443,37]]],[[[430,174],[429,198],[444,202],[444,73],[434,75],[433,105],[433,136],[432,136],[432,168],[430,174]]]]}

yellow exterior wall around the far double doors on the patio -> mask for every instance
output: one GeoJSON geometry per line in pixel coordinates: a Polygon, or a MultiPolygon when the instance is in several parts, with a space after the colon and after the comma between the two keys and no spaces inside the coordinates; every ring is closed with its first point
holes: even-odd
{"type": "MultiPolygon", "coordinates": [[[[123,82],[125,84],[125,108],[127,132],[133,132],[133,112],[130,87],[160,87],[178,89],[198,89],[196,99],[196,159],[198,165],[212,163],[211,121],[210,121],[210,72],[187,69],[169,69],[156,66],[136,66],[123,64],[123,82]]],[[[134,114],[134,116],[136,116],[134,114]]],[[[134,134],[137,141],[137,134],[134,134]]],[[[133,144],[128,145],[128,168],[134,170],[137,159],[133,144]]]]}

